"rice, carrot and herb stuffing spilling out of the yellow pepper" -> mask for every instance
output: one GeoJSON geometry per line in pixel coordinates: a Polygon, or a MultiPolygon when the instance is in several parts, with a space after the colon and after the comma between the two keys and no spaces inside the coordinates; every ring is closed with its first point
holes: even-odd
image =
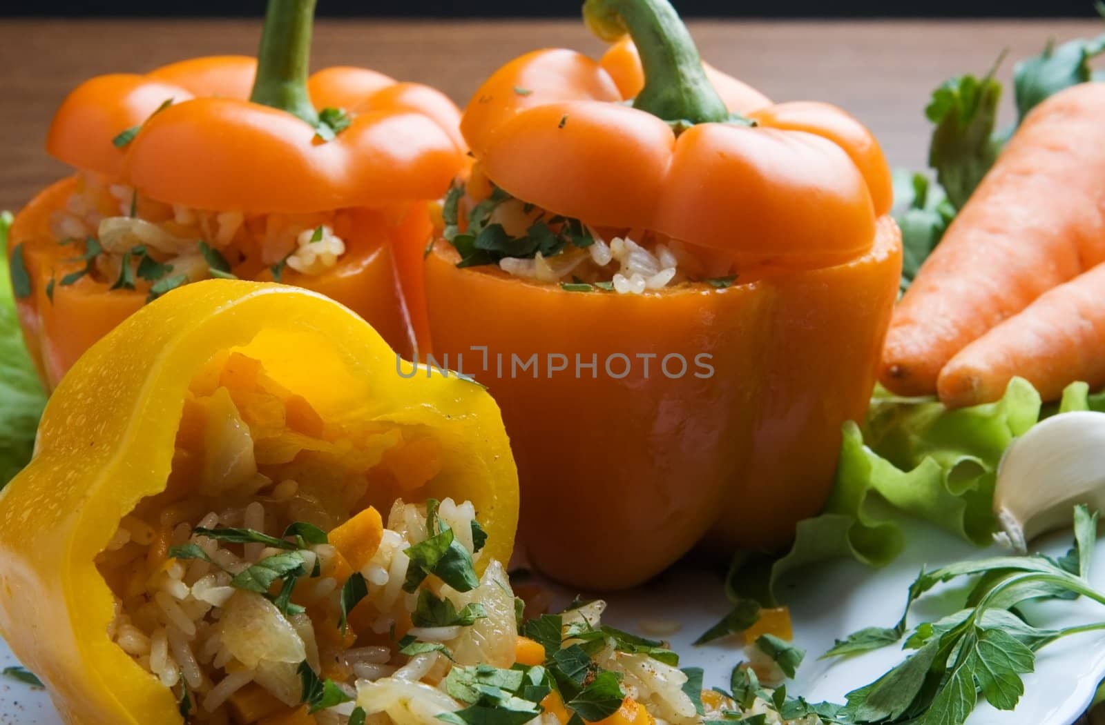
{"type": "Polygon", "coordinates": [[[191,385],[166,490],[96,558],[116,597],[110,638],[189,723],[691,725],[740,712],[716,693],[696,702],[661,642],[601,626],[602,601],[524,621],[503,564],[483,561],[471,502],[397,495],[432,480],[440,456],[422,430],[325,423],[260,362],[218,355],[191,385]]]}

